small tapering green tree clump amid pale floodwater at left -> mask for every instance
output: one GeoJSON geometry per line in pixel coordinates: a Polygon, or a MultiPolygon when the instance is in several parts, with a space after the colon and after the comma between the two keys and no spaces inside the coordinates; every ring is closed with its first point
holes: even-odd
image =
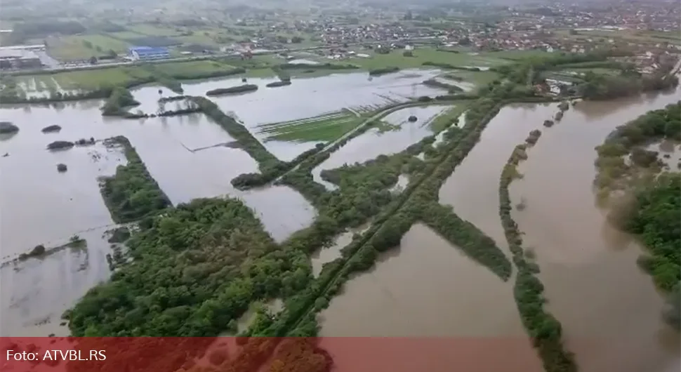
{"type": "Polygon", "coordinates": [[[128,164],[100,180],[100,191],[112,219],[117,222],[140,220],[161,213],[171,202],[147,171],[142,159],[127,138],[118,136],[107,145],[121,146],[128,164]]]}

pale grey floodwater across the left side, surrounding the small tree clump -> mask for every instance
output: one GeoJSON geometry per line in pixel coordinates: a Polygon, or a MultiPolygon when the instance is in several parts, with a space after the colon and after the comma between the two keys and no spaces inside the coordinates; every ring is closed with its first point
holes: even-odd
{"type": "MultiPolygon", "coordinates": [[[[154,88],[156,94],[158,91],[154,88]]],[[[258,164],[238,148],[220,126],[201,114],[126,120],[105,118],[100,100],[55,106],[0,107],[0,120],[20,128],[0,138],[0,257],[2,262],[38,244],[58,246],[73,234],[87,239],[85,251],[66,249],[42,260],[27,260],[1,270],[3,323],[0,334],[47,336],[67,333],[59,317],[110,271],[109,244],[102,231],[112,227],[98,177],[112,175],[126,159],[101,142],[51,152],[54,140],[103,140],[125,135],[173,204],[198,197],[240,197],[254,209],[277,241],[310,225],[315,210],[289,187],[240,192],[230,180],[257,172],[258,164]],[[58,124],[59,133],[42,133],[58,124]],[[57,164],[67,172],[58,173],[57,164]],[[285,221],[285,222],[282,222],[285,221]],[[96,232],[96,233],[95,233],[96,232]]]]}

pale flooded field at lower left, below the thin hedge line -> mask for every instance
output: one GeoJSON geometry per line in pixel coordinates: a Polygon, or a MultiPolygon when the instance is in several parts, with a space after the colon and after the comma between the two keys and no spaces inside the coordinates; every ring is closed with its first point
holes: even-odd
{"type": "MultiPolygon", "coordinates": [[[[3,210],[5,211],[5,210],[3,210]]],[[[3,219],[3,223],[6,218],[3,219]]],[[[40,236],[39,225],[30,234],[40,236]]],[[[68,336],[60,319],[88,289],[109,278],[106,255],[110,244],[103,234],[111,227],[78,232],[85,248],[65,248],[44,258],[31,258],[0,268],[0,336],[68,336]]],[[[3,225],[3,237],[11,232],[3,225]]],[[[55,239],[46,248],[65,244],[55,239]]],[[[3,254],[5,252],[3,245],[3,254]]],[[[11,248],[11,246],[8,246],[11,248]]],[[[29,247],[32,248],[32,247],[29,247]]]]}

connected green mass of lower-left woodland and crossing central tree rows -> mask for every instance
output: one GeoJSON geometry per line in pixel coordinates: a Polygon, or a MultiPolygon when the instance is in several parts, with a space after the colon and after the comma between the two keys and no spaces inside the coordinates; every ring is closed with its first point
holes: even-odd
{"type": "MultiPolygon", "coordinates": [[[[248,208],[230,199],[196,200],[143,220],[140,232],[128,240],[133,261],[74,307],[68,314],[72,332],[77,336],[215,336],[232,328],[234,319],[253,301],[279,297],[285,300],[284,310],[274,316],[258,312],[244,336],[316,336],[315,312],[328,306],[350,274],[368,269],[378,253],[399,245],[418,220],[427,220],[470,257],[508,279],[508,259],[491,239],[456,218],[451,209],[437,205],[444,180],[507,102],[504,89],[492,88],[491,98],[473,102],[466,125],[449,129],[448,140],[437,149],[432,148],[435,138],[430,136],[392,157],[324,172],[324,178],[339,186],[337,190],[330,192],[314,182],[310,171],[370,126],[335,143],[328,152],[302,160],[279,182],[301,192],[317,208],[318,215],[310,227],[279,246],[262,231],[248,208]],[[417,159],[416,155],[424,151],[428,160],[417,159]],[[389,189],[400,174],[409,175],[410,182],[406,190],[395,194],[389,189]],[[312,280],[308,255],[346,228],[369,220],[369,230],[357,235],[343,248],[342,257],[324,265],[319,277],[312,280]]],[[[192,100],[249,153],[253,152],[261,169],[275,159],[259,142],[259,146],[254,145],[252,141],[256,140],[250,133],[222,114],[213,102],[192,100]]],[[[303,340],[284,344],[284,352],[277,351],[277,357],[296,359],[296,367],[300,359],[330,363],[324,352],[303,340]]],[[[233,371],[256,369],[278,343],[286,343],[263,338],[243,342],[242,352],[229,362],[233,371]]]]}

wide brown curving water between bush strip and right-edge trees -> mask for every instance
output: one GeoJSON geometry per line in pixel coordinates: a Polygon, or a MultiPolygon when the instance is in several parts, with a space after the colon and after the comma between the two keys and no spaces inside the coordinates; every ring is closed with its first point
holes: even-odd
{"type": "Polygon", "coordinates": [[[678,93],[580,102],[544,131],[519,168],[524,179],[510,186],[513,200],[526,201],[514,218],[535,248],[549,309],[562,321],[581,371],[661,371],[680,360],[678,333],[661,319],[663,299],[635,262],[644,248],[607,223],[591,189],[593,148],[678,93]]]}

